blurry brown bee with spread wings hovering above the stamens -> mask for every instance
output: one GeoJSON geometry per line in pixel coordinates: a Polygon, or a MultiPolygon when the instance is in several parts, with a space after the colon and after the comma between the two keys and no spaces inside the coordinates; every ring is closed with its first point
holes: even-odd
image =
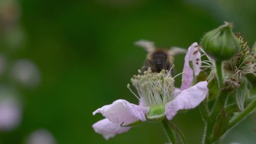
{"type": "Polygon", "coordinates": [[[178,47],[171,47],[171,49],[156,48],[154,42],[148,40],[139,40],[134,44],[144,48],[148,52],[144,66],[141,67],[142,73],[150,67],[152,72],[161,72],[165,69],[168,71],[171,70],[171,75],[174,75],[174,69],[172,68],[174,56],[187,52],[186,49],[178,47]]]}

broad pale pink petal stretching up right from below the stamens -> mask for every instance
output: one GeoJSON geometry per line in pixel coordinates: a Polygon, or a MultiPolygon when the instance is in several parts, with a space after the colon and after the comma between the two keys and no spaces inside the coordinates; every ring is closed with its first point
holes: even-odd
{"type": "Polygon", "coordinates": [[[193,109],[197,107],[208,93],[207,81],[182,91],[173,101],[165,104],[165,115],[171,120],[181,109],[193,109]]]}

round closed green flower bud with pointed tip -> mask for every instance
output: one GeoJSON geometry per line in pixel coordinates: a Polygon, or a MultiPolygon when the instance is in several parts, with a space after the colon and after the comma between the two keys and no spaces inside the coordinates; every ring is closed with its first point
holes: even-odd
{"type": "Polygon", "coordinates": [[[216,61],[224,61],[234,57],[240,44],[232,32],[232,24],[224,25],[207,32],[202,39],[204,51],[216,61]]]}

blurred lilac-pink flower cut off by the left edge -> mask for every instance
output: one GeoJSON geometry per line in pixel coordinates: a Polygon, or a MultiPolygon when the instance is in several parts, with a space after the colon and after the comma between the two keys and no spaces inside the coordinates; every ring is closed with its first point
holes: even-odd
{"type": "Polygon", "coordinates": [[[17,94],[6,87],[0,87],[0,131],[11,131],[21,122],[21,104],[17,94]]]}

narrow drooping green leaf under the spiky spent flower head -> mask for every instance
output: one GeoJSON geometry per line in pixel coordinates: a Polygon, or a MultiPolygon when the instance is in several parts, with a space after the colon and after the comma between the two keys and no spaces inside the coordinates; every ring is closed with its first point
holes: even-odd
{"type": "Polygon", "coordinates": [[[235,92],[235,100],[240,111],[244,110],[245,97],[246,97],[246,93],[248,93],[247,83],[248,83],[247,79],[243,78],[242,83],[240,84],[240,86],[237,88],[235,92]]]}

